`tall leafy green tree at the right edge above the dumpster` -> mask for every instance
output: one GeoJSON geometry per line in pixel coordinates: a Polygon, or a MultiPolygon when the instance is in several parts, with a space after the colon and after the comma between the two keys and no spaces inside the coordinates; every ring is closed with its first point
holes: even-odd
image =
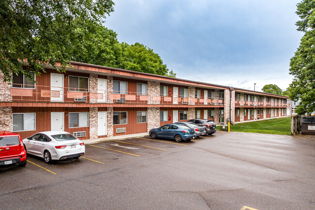
{"type": "Polygon", "coordinates": [[[304,35],[290,61],[294,79],[288,90],[292,100],[299,100],[296,113],[305,114],[315,111],[315,1],[302,0],[297,7],[297,30],[304,35]]]}

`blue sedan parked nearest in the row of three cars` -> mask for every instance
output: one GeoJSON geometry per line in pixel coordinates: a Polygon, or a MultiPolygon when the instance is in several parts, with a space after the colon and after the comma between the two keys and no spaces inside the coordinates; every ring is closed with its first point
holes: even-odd
{"type": "Polygon", "coordinates": [[[149,136],[152,139],[168,138],[181,142],[182,140],[190,141],[196,138],[196,133],[195,129],[191,129],[186,125],[166,124],[158,129],[150,130],[149,136]]]}

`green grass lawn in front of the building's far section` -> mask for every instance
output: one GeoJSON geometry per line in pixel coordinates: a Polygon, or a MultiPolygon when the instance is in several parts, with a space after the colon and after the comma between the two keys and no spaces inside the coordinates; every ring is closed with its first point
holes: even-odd
{"type": "MultiPolygon", "coordinates": [[[[217,129],[220,129],[218,126],[217,129]]],[[[275,118],[231,125],[231,131],[291,135],[291,118],[275,118]]]]}

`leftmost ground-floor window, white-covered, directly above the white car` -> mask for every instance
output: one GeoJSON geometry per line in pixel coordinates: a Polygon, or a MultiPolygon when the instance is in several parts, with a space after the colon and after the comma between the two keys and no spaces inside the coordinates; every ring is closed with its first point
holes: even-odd
{"type": "Polygon", "coordinates": [[[13,113],[13,131],[35,130],[35,113],[13,113]]]}

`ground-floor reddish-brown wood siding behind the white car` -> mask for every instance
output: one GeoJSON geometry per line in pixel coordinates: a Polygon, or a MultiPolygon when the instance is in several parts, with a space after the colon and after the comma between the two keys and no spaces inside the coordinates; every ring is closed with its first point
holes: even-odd
{"type": "Polygon", "coordinates": [[[79,137],[80,140],[89,139],[89,127],[84,128],[69,128],[69,113],[76,112],[89,112],[89,108],[66,108],[66,107],[56,107],[56,108],[38,108],[38,107],[13,107],[12,113],[36,113],[36,130],[30,131],[18,131],[16,133],[20,134],[22,139],[30,137],[34,133],[49,131],[51,130],[51,112],[63,112],[63,125],[64,131],[72,133],[78,131],[85,131],[85,137],[79,137]],[[67,116],[65,114],[68,114],[67,116]]]}

